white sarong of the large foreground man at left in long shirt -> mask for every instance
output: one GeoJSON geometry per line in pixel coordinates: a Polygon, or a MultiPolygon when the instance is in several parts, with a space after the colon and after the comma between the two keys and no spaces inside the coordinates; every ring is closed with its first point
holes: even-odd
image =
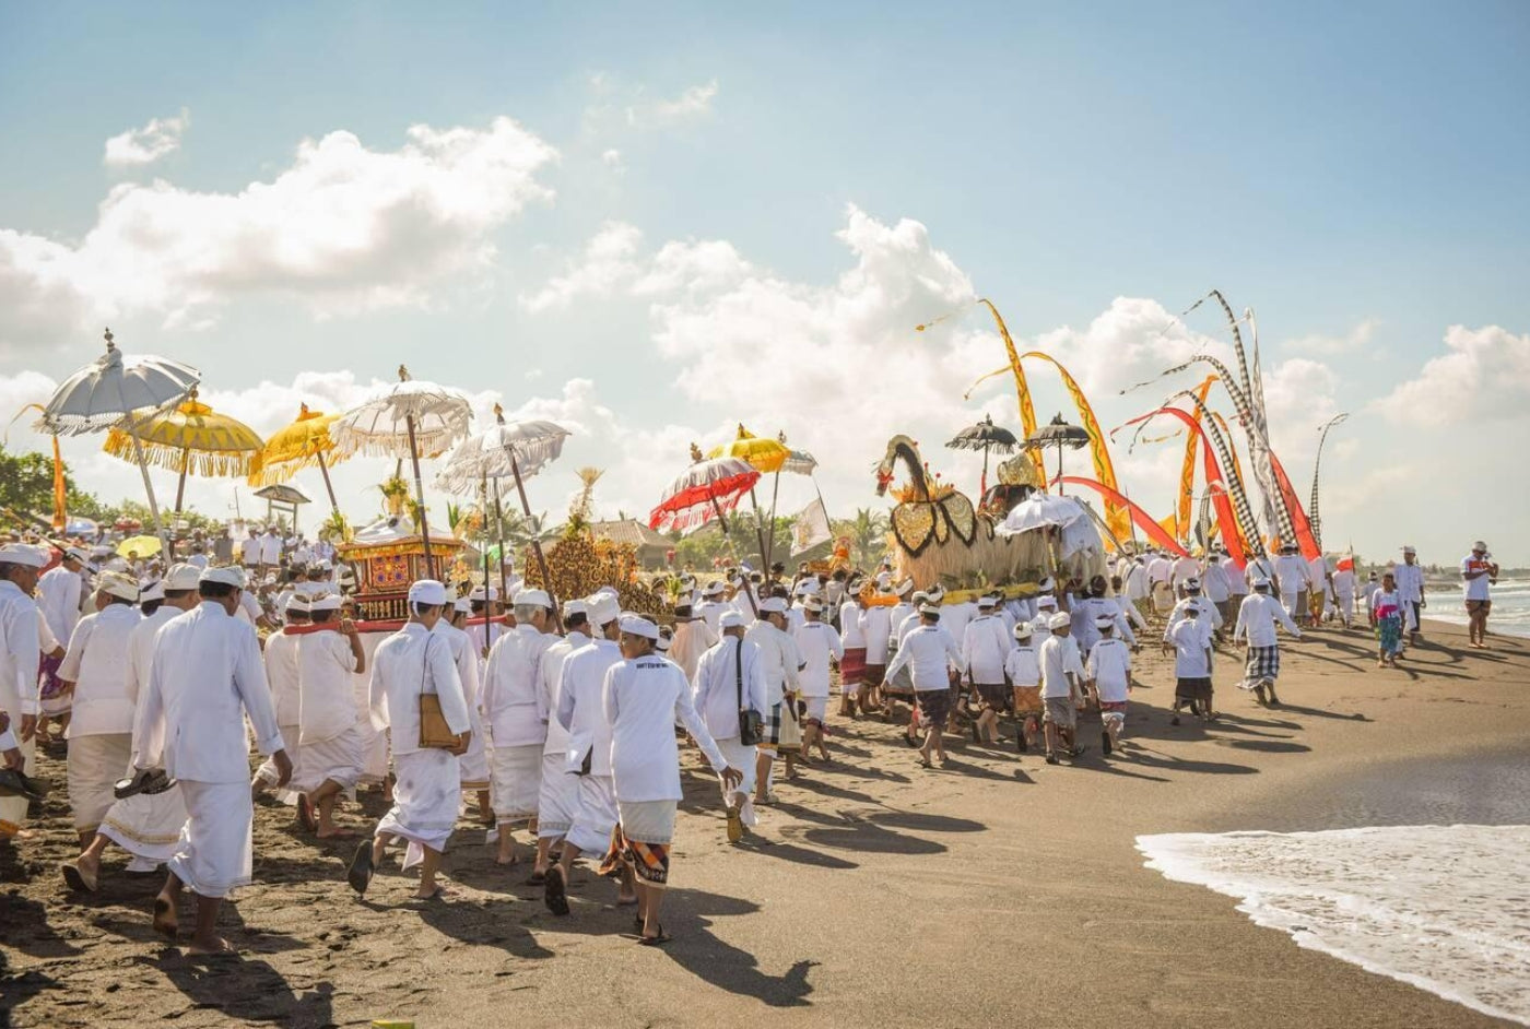
{"type": "Polygon", "coordinates": [[[181,780],[187,821],[181,827],[170,873],[199,898],[223,898],[249,884],[251,827],[256,810],[249,783],[181,780]]]}

